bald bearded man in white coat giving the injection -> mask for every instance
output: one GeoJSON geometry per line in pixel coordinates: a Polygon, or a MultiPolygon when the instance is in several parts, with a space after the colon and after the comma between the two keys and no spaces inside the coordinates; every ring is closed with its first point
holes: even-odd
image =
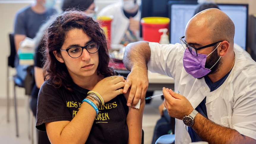
{"type": "Polygon", "coordinates": [[[164,104],[176,118],[176,144],[256,143],[256,63],[234,47],[234,34],[232,20],[211,8],[191,18],[181,44],[127,45],[127,103],[144,100],[147,70],[168,75],[175,89],[163,88],[164,104]]]}

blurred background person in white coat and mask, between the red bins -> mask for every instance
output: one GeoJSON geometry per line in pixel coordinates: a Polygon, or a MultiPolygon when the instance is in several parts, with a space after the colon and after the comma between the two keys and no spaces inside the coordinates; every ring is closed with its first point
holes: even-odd
{"type": "Polygon", "coordinates": [[[138,0],[119,0],[117,3],[104,7],[98,16],[113,15],[111,23],[111,44],[126,46],[130,42],[141,40],[140,2],[138,0]]]}

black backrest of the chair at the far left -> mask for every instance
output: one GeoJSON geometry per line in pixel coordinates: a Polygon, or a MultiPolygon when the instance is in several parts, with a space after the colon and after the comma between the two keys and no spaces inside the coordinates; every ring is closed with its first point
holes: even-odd
{"type": "Polygon", "coordinates": [[[14,67],[14,60],[16,55],[14,34],[9,34],[9,40],[10,40],[10,55],[8,56],[8,66],[14,67]]]}

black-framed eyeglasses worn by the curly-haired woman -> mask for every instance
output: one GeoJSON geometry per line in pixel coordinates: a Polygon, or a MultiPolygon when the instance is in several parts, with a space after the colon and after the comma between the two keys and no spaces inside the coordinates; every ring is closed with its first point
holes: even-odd
{"type": "Polygon", "coordinates": [[[90,42],[84,47],[75,46],[75,47],[60,49],[60,50],[67,51],[68,55],[72,58],[78,58],[79,56],[82,55],[84,48],[88,51],[88,53],[96,53],[99,50],[99,44],[97,44],[97,42],[90,42]]]}

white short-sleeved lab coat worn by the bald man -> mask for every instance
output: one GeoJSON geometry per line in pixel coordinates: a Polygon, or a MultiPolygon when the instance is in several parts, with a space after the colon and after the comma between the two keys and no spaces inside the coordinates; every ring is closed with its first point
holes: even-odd
{"type": "MultiPolygon", "coordinates": [[[[175,92],[185,96],[194,108],[206,96],[208,119],[256,139],[256,63],[244,50],[234,48],[234,67],[225,82],[210,92],[204,78],[196,79],[183,67],[181,44],[150,42],[148,69],[174,78],[175,92]]],[[[224,61],[225,62],[225,61],[224,61]]],[[[218,137],[218,136],[217,136],[218,137]]],[[[175,143],[191,142],[187,126],[176,119],[175,143]]]]}

